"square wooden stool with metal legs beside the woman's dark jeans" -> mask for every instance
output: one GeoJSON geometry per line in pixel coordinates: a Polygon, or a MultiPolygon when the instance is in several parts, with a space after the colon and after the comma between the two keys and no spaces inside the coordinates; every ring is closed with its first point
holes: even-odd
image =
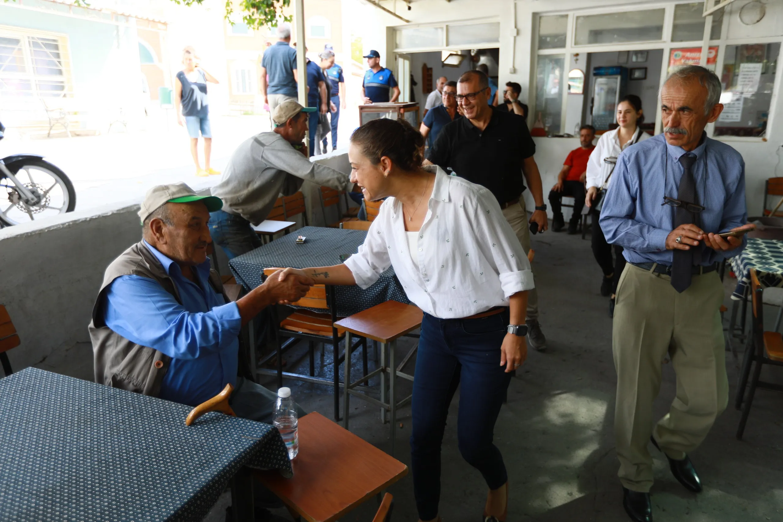
{"type": "Polygon", "coordinates": [[[345,329],[345,346],[351,346],[351,335],[360,335],[365,339],[373,339],[381,343],[381,358],[378,361],[378,367],[370,372],[364,373],[362,379],[351,382],[351,353],[345,353],[345,388],[343,392],[343,426],[348,429],[348,412],[350,396],[355,395],[364,401],[376,404],[381,407],[381,421],[386,422],[386,411],[389,411],[389,426],[391,434],[391,455],[394,455],[394,443],[396,436],[397,408],[401,408],[410,401],[411,397],[406,397],[402,401],[397,401],[395,392],[395,380],[397,377],[413,381],[413,375],[402,372],[402,368],[415,353],[415,348],[410,350],[402,363],[395,366],[395,349],[397,348],[397,339],[421,326],[421,319],[424,314],[418,306],[402,304],[397,301],[387,301],[367,310],[353,314],[337,321],[335,326],[345,329]],[[386,347],[388,345],[388,365],[386,364],[386,347]],[[369,382],[369,379],[375,375],[381,376],[381,401],[369,397],[366,393],[359,393],[366,390],[355,390],[362,382],[369,382]],[[388,377],[388,402],[386,393],[386,378],[388,377]]]}

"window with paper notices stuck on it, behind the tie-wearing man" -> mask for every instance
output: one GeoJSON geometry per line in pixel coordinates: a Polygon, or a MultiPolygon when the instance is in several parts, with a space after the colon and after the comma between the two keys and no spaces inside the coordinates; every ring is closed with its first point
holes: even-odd
{"type": "Polygon", "coordinates": [[[715,136],[765,136],[781,44],[727,45],[715,136]]]}

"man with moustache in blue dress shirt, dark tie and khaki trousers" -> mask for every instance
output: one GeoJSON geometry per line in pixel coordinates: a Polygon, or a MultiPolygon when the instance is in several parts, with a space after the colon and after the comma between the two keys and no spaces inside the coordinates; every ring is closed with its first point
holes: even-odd
{"type": "Polygon", "coordinates": [[[601,210],[609,243],[628,261],[617,287],[612,352],[617,371],[615,438],[623,506],[652,520],[648,444],[660,448],[677,480],[702,491],[688,458],[726,408],[728,382],[716,272],[744,238],[716,234],[748,220],[745,163],[704,132],[723,110],[720,80],[704,67],[680,67],[661,91],[663,134],[619,155],[601,210]],[[653,426],[652,403],[669,355],[677,398],[653,426]]]}

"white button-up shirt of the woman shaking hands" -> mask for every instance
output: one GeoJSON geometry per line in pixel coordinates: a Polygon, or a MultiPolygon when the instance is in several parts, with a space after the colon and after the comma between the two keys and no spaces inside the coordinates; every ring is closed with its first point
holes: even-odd
{"type": "Polygon", "coordinates": [[[408,299],[443,319],[508,306],[511,295],[533,288],[528,258],[493,194],[435,165],[425,169],[435,172],[435,185],[417,238],[418,263],[402,203],[388,198],[359,252],[345,261],[356,284],[367,288],[394,266],[408,299]]]}

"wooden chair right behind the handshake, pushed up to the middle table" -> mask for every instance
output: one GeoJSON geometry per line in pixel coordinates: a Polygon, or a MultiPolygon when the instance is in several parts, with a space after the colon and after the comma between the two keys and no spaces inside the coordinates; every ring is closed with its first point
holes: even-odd
{"type": "MultiPolygon", "coordinates": [[[[280,268],[265,268],[264,275],[269,277],[274,274],[276,270],[280,268]]],[[[310,288],[305,297],[299,299],[296,302],[296,306],[305,306],[306,308],[315,308],[316,310],[326,310],[326,312],[314,312],[312,310],[305,310],[303,308],[297,308],[293,314],[280,321],[280,317],[276,306],[271,306],[272,310],[272,324],[277,324],[277,328],[273,328],[275,332],[275,342],[277,346],[277,370],[269,370],[265,368],[258,368],[256,373],[262,375],[276,375],[277,386],[283,386],[283,377],[287,379],[295,379],[305,382],[313,382],[316,384],[327,384],[334,386],[334,419],[340,420],[340,364],[342,363],[345,355],[340,355],[340,341],[345,338],[345,328],[340,328],[336,325],[337,321],[341,317],[337,317],[337,303],[334,299],[334,286],[332,285],[315,285],[310,288]],[[283,337],[287,337],[290,340],[283,344],[283,337]],[[293,346],[298,339],[305,339],[309,343],[309,357],[310,357],[310,375],[300,375],[291,372],[283,372],[283,352],[288,350],[290,346],[293,346]],[[316,343],[322,343],[326,346],[326,343],[331,343],[334,357],[334,370],[331,379],[325,379],[323,377],[316,377],[316,358],[315,349],[316,343]]],[[[346,339],[346,345],[348,346],[348,340],[346,339]]],[[[363,364],[364,373],[367,373],[367,343],[366,339],[359,339],[356,343],[358,346],[363,347],[363,364]]],[[[347,350],[346,350],[347,351],[347,350]]],[[[350,350],[351,352],[353,350],[350,350]]],[[[262,364],[266,361],[262,360],[262,364]]]]}

